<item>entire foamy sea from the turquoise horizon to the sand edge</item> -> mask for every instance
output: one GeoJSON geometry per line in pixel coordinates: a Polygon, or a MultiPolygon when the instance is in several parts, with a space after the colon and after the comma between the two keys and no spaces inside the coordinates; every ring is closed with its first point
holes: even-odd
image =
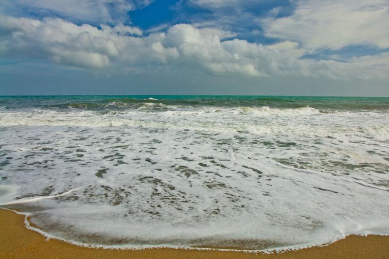
{"type": "Polygon", "coordinates": [[[2,96],[0,206],[68,242],[389,235],[389,98],[2,96]]]}

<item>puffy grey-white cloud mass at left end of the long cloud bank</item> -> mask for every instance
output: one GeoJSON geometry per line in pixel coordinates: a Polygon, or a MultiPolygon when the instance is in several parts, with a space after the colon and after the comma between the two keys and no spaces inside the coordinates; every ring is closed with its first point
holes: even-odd
{"type": "Polygon", "coordinates": [[[59,18],[39,21],[0,16],[0,54],[43,57],[61,64],[102,68],[110,64],[110,57],[119,55],[124,39],[141,35],[139,28],[122,24],[101,27],[79,26],[59,18]]]}

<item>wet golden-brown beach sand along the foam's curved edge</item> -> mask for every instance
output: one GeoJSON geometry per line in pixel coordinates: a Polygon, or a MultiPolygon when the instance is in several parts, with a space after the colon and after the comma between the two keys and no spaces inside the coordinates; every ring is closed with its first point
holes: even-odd
{"type": "Polygon", "coordinates": [[[320,259],[320,258],[389,258],[389,236],[349,236],[324,247],[312,247],[280,254],[253,254],[231,251],[199,251],[186,249],[110,250],[79,247],[58,240],[46,240],[25,228],[24,216],[0,209],[0,258],[220,258],[220,259],[320,259]]]}

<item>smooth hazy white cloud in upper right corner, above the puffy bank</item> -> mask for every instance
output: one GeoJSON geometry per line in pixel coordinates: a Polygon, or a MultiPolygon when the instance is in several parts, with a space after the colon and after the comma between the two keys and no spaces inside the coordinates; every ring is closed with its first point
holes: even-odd
{"type": "Polygon", "coordinates": [[[298,41],[311,52],[349,45],[389,48],[388,0],[299,0],[291,16],[263,23],[265,36],[298,41]]]}

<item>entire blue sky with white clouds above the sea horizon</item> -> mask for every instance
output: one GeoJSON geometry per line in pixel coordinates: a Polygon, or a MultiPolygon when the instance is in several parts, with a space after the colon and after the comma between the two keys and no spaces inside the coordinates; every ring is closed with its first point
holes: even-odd
{"type": "Polygon", "coordinates": [[[1,0],[0,95],[389,96],[389,0],[1,0]]]}

